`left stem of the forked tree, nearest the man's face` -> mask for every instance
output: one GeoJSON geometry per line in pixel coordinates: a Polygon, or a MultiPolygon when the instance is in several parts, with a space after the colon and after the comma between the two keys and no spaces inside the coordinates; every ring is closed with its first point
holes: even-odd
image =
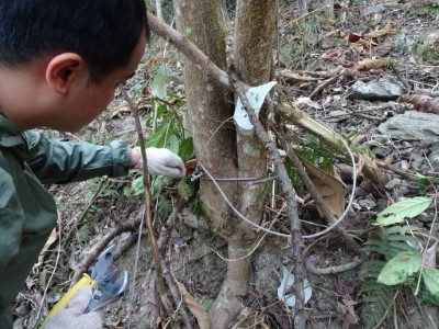
{"type": "MultiPolygon", "coordinates": [[[[198,46],[217,67],[225,69],[226,53],[221,26],[221,0],[175,0],[177,27],[198,46]]],[[[232,123],[219,127],[233,116],[224,89],[212,83],[203,70],[188,58],[184,60],[184,92],[192,124],[193,145],[198,161],[214,177],[236,175],[236,143],[232,123]],[[218,128],[219,127],[219,128],[218,128]]],[[[222,184],[226,195],[234,198],[235,183],[222,184]]],[[[221,235],[230,209],[221,198],[214,184],[202,179],[200,198],[212,223],[221,235]]],[[[226,235],[226,232],[225,232],[226,235]]]]}

